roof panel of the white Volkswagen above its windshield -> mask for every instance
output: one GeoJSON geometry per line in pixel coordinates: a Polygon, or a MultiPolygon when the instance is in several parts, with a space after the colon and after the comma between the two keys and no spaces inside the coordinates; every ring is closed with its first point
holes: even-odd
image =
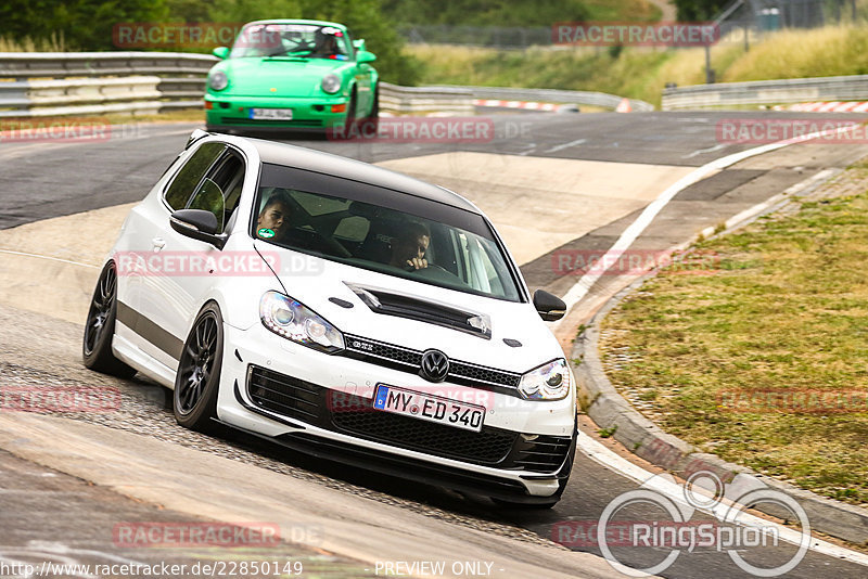
{"type": "Polygon", "coordinates": [[[263,163],[273,163],[286,167],[295,167],[308,171],[321,172],[359,181],[371,185],[382,186],[392,191],[423,197],[452,207],[458,207],[474,214],[480,209],[468,200],[444,189],[419,179],[413,179],[399,172],[390,171],[360,160],[354,160],[312,149],[266,141],[263,139],[246,139],[256,146],[263,163]]]}

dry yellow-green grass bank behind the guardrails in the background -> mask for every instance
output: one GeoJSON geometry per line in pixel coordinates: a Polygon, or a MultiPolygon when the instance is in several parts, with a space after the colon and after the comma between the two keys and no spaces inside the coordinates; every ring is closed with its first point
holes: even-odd
{"type": "MultiPolygon", "coordinates": [[[[480,85],[593,90],[659,105],[667,82],[705,82],[702,48],[531,48],[497,51],[467,47],[409,46],[424,63],[420,85],[480,85]]],[[[868,26],[783,30],[752,41],[736,37],[712,49],[717,80],[800,78],[868,73],[868,26]]]]}

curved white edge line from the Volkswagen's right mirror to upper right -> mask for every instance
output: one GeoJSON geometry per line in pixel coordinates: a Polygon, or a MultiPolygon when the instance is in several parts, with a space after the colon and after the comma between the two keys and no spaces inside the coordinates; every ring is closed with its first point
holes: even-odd
{"type": "MultiPolygon", "coordinates": [[[[763,153],[768,153],[770,151],[776,151],[778,149],[782,149],[784,146],[789,146],[791,144],[803,143],[810,139],[815,139],[817,137],[825,137],[827,134],[838,134],[840,132],[845,132],[848,130],[853,130],[853,126],[846,127],[838,127],[835,129],[830,129],[826,131],[817,131],[806,134],[799,139],[788,139],[786,141],[777,141],[775,143],[764,144],[761,146],[755,146],[753,149],[748,149],[746,151],[741,151],[739,153],[733,153],[731,155],[727,155],[725,157],[720,157],[718,159],[712,160],[711,163],[706,163],[702,167],[698,167],[693,171],[689,172],[688,175],[680,178],[678,181],[669,185],[665,191],[663,191],[658,198],[651,202],[648,206],[646,206],[644,210],[636,218],[636,220],[630,223],[630,226],[624,230],[617,241],[612,245],[612,247],[603,255],[600,259],[601,263],[614,263],[617,260],[617,257],[622,255],[625,250],[633,245],[633,242],[644,231],[648,226],[651,224],[651,221],[663,210],[663,208],[682,190],[687,189],[689,185],[692,185],[697,181],[700,181],[709,173],[713,171],[717,171],[720,169],[725,169],[730,165],[735,165],[740,160],[744,160],[745,158],[754,157],[756,155],[762,155],[763,153]]],[[[552,322],[549,325],[549,329],[552,332],[556,332],[561,323],[569,318],[570,310],[578,304],[582,298],[588,293],[588,291],[597,283],[603,274],[605,274],[607,268],[595,268],[593,270],[585,273],[576,283],[571,287],[566,294],[563,296],[563,300],[566,304],[566,316],[558,320],[557,322],[552,322]]]]}

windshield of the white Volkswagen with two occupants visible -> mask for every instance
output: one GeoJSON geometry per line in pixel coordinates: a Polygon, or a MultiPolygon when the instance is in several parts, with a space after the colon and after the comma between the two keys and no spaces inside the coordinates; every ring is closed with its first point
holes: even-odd
{"type": "Polygon", "coordinates": [[[367,270],[470,294],[521,300],[507,258],[481,216],[379,188],[373,189],[385,192],[391,206],[303,190],[296,183],[290,186],[280,182],[284,181],[280,175],[283,171],[266,170],[268,167],[277,166],[264,166],[253,219],[254,236],[367,270]],[[408,208],[416,213],[397,207],[399,197],[408,197],[408,208]],[[432,210],[424,211],[425,205],[432,210]],[[457,214],[454,223],[448,220],[450,213],[457,214]]]}

